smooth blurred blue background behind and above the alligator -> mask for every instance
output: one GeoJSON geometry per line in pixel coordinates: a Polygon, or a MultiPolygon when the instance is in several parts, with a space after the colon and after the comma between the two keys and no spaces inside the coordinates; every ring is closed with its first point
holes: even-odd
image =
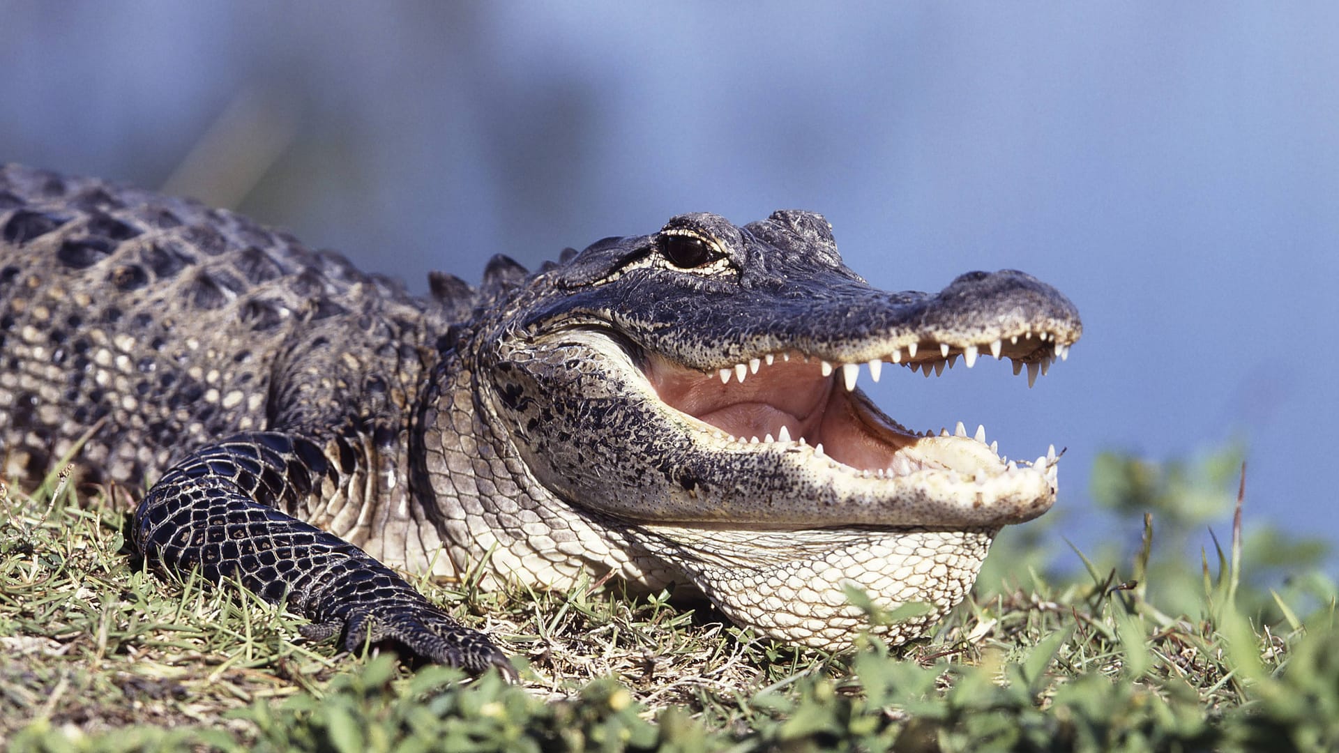
{"type": "Polygon", "coordinates": [[[1011,267],[1078,304],[1034,390],[987,359],[872,393],[1067,446],[1081,547],[1139,535],[1095,509],[1097,453],[1225,442],[1248,528],[1335,540],[1339,5],[1281,8],[7,1],[0,161],[238,208],[416,291],[814,209],[878,287],[1011,267]]]}

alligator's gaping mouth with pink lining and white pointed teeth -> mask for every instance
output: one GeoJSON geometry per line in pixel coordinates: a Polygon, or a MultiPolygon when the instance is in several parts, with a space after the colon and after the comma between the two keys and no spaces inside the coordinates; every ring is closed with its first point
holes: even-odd
{"type": "Polygon", "coordinates": [[[968,434],[957,422],[952,433],[916,433],[881,413],[856,385],[862,371],[877,382],[888,364],[928,376],[959,360],[972,367],[984,355],[1011,359],[1014,372],[1026,370],[1031,385],[1056,359],[1067,358],[1070,344],[1051,332],[1022,332],[977,344],[894,346],[854,363],[785,351],[711,374],[651,355],[644,371],[660,401],[691,417],[720,443],[807,453],[810,462],[826,460],[838,474],[870,480],[929,472],[947,481],[987,486],[1004,484],[1014,474],[1039,473],[1054,496],[1054,446],[1035,461],[1018,462],[1000,457],[994,442],[987,443],[984,427],[968,434]]]}

